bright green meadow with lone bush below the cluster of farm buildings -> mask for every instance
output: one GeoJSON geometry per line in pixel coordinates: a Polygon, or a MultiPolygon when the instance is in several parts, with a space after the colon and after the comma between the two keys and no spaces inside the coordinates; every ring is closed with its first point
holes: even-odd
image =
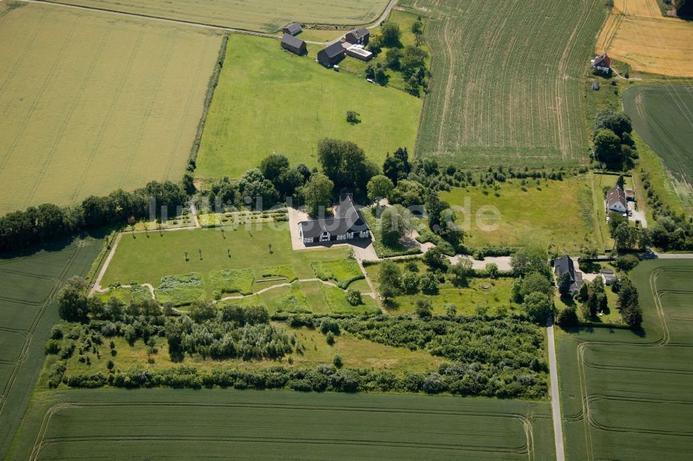
{"type": "MultiPolygon", "coordinates": [[[[278,40],[231,35],[198,154],[198,177],[240,177],[265,156],[317,166],[323,138],[353,141],[383,163],[416,143],[421,100],[284,51],[278,40]],[[252,109],[250,109],[252,108],[252,109]],[[361,123],[347,123],[347,111],[361,123]]],[[[353,58],[347,58],[353,59],[353,58]]]]}

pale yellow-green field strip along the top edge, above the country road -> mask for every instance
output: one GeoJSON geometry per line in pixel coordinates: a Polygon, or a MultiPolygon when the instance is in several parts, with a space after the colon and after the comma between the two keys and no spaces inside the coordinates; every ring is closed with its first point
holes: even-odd
{"type": "Polygon", "coordinates": [[[389,0],[49,0],[213,26],[274,33],[290,22],[367,24],[378,19],[389,0]]]}

